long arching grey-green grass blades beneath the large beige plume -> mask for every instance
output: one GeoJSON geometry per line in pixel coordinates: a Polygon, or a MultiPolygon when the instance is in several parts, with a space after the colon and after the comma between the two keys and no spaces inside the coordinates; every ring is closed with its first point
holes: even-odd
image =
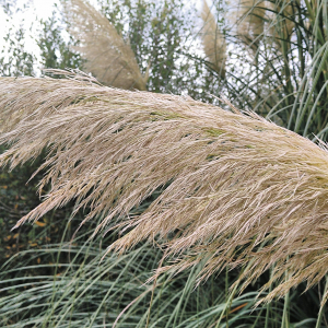
{"type": "MultiPolygon", "coordinates": [[[[237,271],[212,277],[196,290],[201,265],[143,284],[163,253],[147,243],[102,259],[116,236],[86,241],[84,234],[93,229],[89,225],[70,243],[22,251],[16,263],[8,261],[0,273],[3,326],[281,327],[284,302],[253,308],[257,285],[243,295],[227,296],[237,271]]],[[[316,319],[311,316],[318,306],[317,294],[312,290],[300,302],[297,297],[300,291],[290,295],[289,323],[293,324],[289,327],[314,327],[316,319]]]]}

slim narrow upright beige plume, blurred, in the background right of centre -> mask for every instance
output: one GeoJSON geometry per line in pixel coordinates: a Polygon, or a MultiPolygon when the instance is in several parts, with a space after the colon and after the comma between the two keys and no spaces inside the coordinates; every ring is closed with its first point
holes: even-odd
{"type": "Polygon", "coordinates": [[[202,34],[204,52],[212,63],[213,69],[224,78],[226,43],[206,0],[203,0],[201,17],[204,23],[204,31],[202,34]]]}

